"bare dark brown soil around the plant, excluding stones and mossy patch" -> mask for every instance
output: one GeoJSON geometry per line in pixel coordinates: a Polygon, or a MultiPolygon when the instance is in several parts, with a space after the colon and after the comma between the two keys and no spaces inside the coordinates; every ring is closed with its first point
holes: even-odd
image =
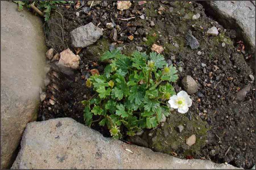
{"type": "MultiPolygon", "coordinates": [[[[98,61],[101,54],[112,46],[115,48],[122,46],[122,52],[125,54],[136,50],[136,46],[141,46],[143,51],[150,52],[151,45],[155,43],[164,47],[163,55],[166,59],[171,59],[171,62],[180,70],[179,80],[174,84],[177,92],[181,90],[181,80],[185,75],[191,75],[199,84],[198,92],[191,95],[193,104],[185,117],[188,120],[192,117],[192,121],[200,117],[204,121],[205,128],[208,129],[207,141],[204,141],[204,146],[196,153],[188,154],[168,146],[171,151],[176,152],[179,158],[210,159],[217,163],[228,162],[236,167],[253,167],[255,163],[255,87],[250,82],[249,74],[253,74],[255,70],[255,67],[250,67],[254,65],[254,56],[251,59],[245,59],[249,54],[237,52],[238,45],[234,30],[224,29],[220,24],[208,18],[203,6],[195,2],[148,1],[141,6],[138,2],[133,2],[129,10],[119,11],[116,2],[105,1],[93,6],[89,14],[81,11],[80,16],[77,17],[75,13],[80,10],[81,8],[75,10],[73,5],[70,8],[57,7],[56,11],[63,15],[63,32],[61,15],[52,12],[51,20],[45,25],[49,48],[54,48],[60,53],[69,47],[76,53],[76,49],[71,45],[69,32],[89,22],[94,25],[101,23],[98,27],[104,28],[104,36],[95,44],[81,50],[78,70],[63,73],[55,66],[55,63],[51,63],[51,70],[48,72],[51,83],[46,87],[47,99],[40,106],[39,121],[72,117],[84,124],[84,107],[80,101],[89,100],[94,94],[91,89],[86,88],[85,81],[91,69],[98,69],[100,72],[104,70],[105,65],[98,61]],[[115,6],[113,6],[114,3],[115,6]],[[158,13],[160,6],[164,7],[162,14],[158,13]],[[192,15],[196,13],[201,15],[198,20],[184,19],[186,14],[188,18],[192,18],[192,15]],[[139,18],[142,14],[147,18],[144,20],[139,18]],[[129,21],[120,19],[131,16],[135,16],[136,19],[129,21]],[[112,44],[110,37],[112,29],[105,28],[106,23],[111,22],[111,18],[121,28],[118,30],[117,39],[118,42],[123,41],[122,43],[112,44]],[[151,27],[150,21],[153,21],[155,26],[151,27]],[[219,32],[224,37],[205,35],[208,28],[212,26],[220,28],[219,32]],[[197,50],[192,50],[186,45],[185,35],[189,29],[200,43],[200,48],[197,50]],[[153,36],[153,33],[156,36],[153,36]],[[134,36],[132,41],[127,39],[130,35],[134,36]],[[143,42],[143,37],[147,37],[148,41],[143,42]],[[230,42],[224,47],[221,45],[223,38],[230,42]],[[197,54],[199,51],[202,52],[201,55],[197,54]],[[202,67],[201,63],[207,66],[202,67]],[[250,92],[243,101],[237,101],[236,92],[247,84],[251,84],[250,92]],[[49,99],[57,101],[56,104],[49,104],[49,99]]],[[[97,117],[94,119],[97,120],[97,117]]],[[[167,118],[165,124],[170,122],[171,119],[167,118]]],[[[92,125],[92,128],[109,137],[108,129],[99,127],[97,122],[92,125]]],[[[156,134],[154,131],[164,130],[161,127],[158,129],[146,130],[144,134],[148,136],[148,133],[152,131],[154,137],[156,134]]],[[[153,137],[148,138],[144,134],[141,136],[141,141],[135,144],[170,154],[170,150],[152,147],[153,137]]]]}

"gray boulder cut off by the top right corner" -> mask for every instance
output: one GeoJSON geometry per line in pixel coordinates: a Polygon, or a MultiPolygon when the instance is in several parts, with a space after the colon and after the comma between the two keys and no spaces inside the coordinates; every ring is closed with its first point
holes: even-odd
{"type": "MultiPolygon", "coordinates": [[[[253,1],[255,3],[255,1],[253,1]]],[[[205,11],[225,28],[238,31],[250,50],[255,51],[255,6],[250,1],[205,1],[205,11]]]]}

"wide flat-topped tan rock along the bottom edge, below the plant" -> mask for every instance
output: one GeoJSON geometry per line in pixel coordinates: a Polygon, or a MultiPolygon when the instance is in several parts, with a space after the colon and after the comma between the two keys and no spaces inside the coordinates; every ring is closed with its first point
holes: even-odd
{"type": "Polygon", "coordinates": [[[72,118],[31,122],[12,169],[237,169],[209,160],[181,160],[119,140],[72,118]]]}

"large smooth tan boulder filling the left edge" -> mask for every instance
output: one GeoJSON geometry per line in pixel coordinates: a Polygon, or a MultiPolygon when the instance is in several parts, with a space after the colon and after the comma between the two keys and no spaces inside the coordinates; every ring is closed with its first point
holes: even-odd
{"type": "Polygon", "coordinates": [[[37,117],[47,51],[42,25],[1,1],[1,169],[11,165],[26,124],[37,117]]]}

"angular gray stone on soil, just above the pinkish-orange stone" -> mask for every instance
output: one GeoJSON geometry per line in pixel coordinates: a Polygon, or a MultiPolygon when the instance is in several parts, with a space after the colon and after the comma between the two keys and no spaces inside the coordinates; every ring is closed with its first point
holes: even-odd
{"type": "Polygon", "coordinates": [[[83,25],[70,32],[72,45],[76,48],[84,48],[96,42],[103,35],[101,28],[93,23],[83,25]]]}

